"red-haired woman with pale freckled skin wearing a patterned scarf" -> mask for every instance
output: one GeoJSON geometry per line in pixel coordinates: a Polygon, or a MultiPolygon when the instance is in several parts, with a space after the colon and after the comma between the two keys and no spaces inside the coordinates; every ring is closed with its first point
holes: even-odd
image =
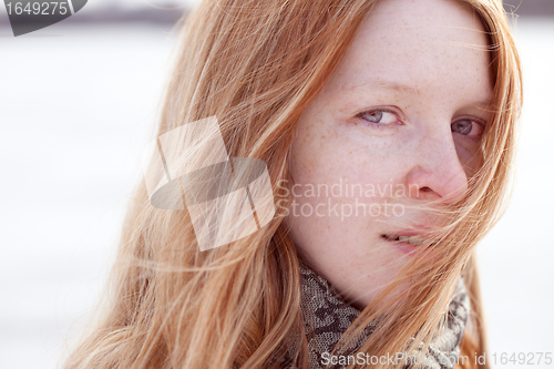
{"type": "Polygon", "coordinates": [[[182,35],[156,136],[217,116],[277,214],[201,250],[141,181],[65,367],[486,368],[474,252],[522,99],[501,2],[205,1],[182,35]]]}

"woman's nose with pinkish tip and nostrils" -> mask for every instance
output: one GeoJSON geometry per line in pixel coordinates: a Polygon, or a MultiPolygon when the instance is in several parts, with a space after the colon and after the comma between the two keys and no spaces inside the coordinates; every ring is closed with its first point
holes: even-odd
{"type": "Polygon", "coordinates": [[[452,132],[427,135],[418,145],[406,177],[410,197],[455,203],[468,192],[468,176],[452,137],[452,132]]]}

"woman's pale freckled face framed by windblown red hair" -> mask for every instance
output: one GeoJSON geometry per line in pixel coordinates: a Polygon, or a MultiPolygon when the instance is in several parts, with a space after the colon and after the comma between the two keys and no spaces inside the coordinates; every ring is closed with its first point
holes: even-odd
{"type": "Polygon", "coordinates": [[[418,240],[404,237],[440,222],[404,205],[455,203],[468,189],[490,120],[488,44],[459,2],[378,1],[304,112],[287,223],[300,254],[355,306],[412,260],[418,240]]]}

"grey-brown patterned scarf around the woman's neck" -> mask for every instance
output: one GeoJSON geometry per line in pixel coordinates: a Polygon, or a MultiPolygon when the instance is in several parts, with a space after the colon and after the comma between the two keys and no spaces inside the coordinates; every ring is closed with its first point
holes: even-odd
{"type": "MultiPolygon", "coordinates": [[[[327,279],[305,265],[300,265],[301,275],[301,315],[306,336],[308,338],[309,368],[343,368],[351,360],[361,365],[377,363],[375,360],[383,358],[371,357],[370,352],[363,352],[362,358],[356,355],[363,341],[373,332],[377,322],[368,325],[359,340],[337,356],[331,351],[340,339],[342,332],[361,314],[360,310],[349,305],[327,279]]],[[[465,285],[460,277],[448,306],[445,324],[441,326],[438,335],[432,339],[425,355],[422,347],[412,350],[410,355],[402,352],[400,361],[406,362],[403,368],[411,363],[422,363],[424,369],[451,369],[460,356],[460,341],[463,336],[465,324],[470,311],[470,303],[465,291],[465,285]]],[[[413,340],[413,338],[412,338],[413,340]]],[[[289,350],[287,357],[290,357],[289,350]]],[[[393,356],[391,356],[393,358],[393,356]]],[[[391,360],[389,358],[389,360],[391,360]]],[[[399,361],[399,362],[400,362],[399,361]]],[[[391,363],[391,361],[387,361],[391,363]]],[[[392,365],[391,365],[392,366],[392,365]]],[[[287,368],[295,368],[288,363],[287,368]]]]}

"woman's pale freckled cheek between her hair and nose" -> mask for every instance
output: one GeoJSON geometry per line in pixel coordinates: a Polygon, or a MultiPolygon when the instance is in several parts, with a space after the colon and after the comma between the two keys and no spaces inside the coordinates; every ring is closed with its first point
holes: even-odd
{"type": "MultiPolygon", "coordinates": [[[[340,244],[353,254],[368,245],[379,214],[378,188],[390,186],[388,174],[375,165],[365,145],[357,145],[324,124],[299,127],[290,156],[290,189],[294,196],[287,223],[302,246],[340,244]],[[376,191],[369,191],[372,188],[376,191]],[[375,205],[356,207],[362,205],[375,205]]],[[[316,250],[311,250],[316,252],[316,250]]]]}

